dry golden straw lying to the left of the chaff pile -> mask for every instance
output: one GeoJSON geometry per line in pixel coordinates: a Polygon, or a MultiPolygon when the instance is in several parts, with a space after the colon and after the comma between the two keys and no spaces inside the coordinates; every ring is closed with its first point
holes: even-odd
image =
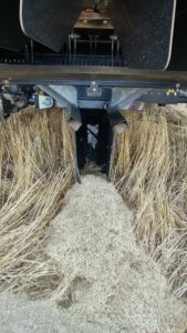
{"type": "Polygon", "coordinates": [[[0,123],[0,287],[48,297],[62,273],[43,246],[74,178],[62,110],[25,110],[0,123]]]}

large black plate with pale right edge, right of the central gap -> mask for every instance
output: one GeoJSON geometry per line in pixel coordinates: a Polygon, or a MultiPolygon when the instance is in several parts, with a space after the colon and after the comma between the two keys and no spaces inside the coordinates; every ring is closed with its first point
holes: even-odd
{"type": "Polygon", "coordinates": [[[131,69],[165,70],[172,53],[176,0],[113,0],[110,17],[131,69]]]}

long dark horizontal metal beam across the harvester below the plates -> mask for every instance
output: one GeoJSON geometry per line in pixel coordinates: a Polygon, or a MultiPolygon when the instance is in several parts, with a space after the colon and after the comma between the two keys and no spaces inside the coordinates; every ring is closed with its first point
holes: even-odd
{"type": "Polygon", "coordinates": [[[142,71],[120,67],[0,64],[0,84],[67,84],[187,89],[187,71],[142,71]]]}

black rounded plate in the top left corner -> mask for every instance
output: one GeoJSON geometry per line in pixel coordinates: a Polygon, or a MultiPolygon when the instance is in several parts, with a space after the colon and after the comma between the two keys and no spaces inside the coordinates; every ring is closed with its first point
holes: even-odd
{"type": "Polygon", "coordinates": [[[0,48],[19,51],[28,41],[19,21],[19,0],[0,2],[0,48]]]}

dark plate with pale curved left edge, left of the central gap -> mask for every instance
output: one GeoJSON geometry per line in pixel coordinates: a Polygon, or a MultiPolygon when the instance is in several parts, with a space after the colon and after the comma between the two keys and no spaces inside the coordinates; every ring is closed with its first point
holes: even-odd
{"type": "Polygon", "coordinates": [[[59,52],[82,10],[92,0],[21,0],[20,20],[27,36],[59,52]]]}

